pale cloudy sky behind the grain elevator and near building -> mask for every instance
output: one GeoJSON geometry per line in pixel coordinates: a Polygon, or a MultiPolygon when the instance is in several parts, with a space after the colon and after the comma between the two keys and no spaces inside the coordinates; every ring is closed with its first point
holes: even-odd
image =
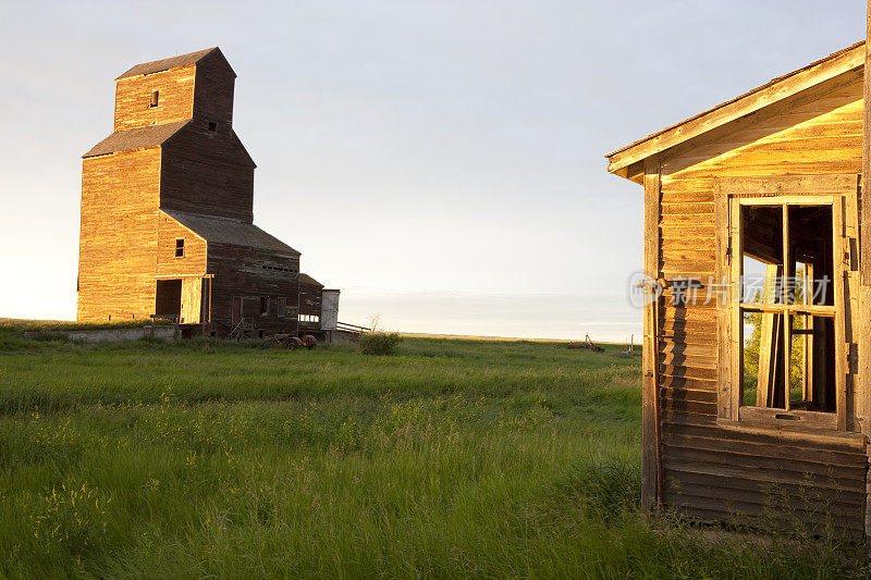
{"type": "Polygon", "coordinates": [[[642,192],[604,153],[864,37],[863,0],[0,0],[0,317],[74,319],[113,78],[219,46],[255,223],[404,332],[621,342],[642,192]]]}

